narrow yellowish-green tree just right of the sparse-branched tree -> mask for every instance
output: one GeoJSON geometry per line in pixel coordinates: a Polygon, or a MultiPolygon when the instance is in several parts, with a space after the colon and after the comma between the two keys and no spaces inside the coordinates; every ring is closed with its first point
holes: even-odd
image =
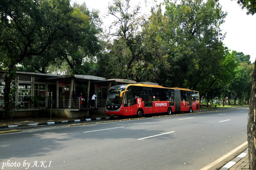
{"type": "Polygon", "coordinates": [[[151,16],[142,26],[141,58],[136,63],[137,77],[142,82],[156,82],[166,86],[170,74],[168,45],[163,37],[168,30],[167,18],[162,14],[161,4],[152,7],[151,16]]]}

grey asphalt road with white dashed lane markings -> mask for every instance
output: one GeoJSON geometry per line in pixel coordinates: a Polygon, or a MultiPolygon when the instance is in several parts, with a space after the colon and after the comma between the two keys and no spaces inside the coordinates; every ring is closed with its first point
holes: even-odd
{"type": "Polygon", "coordinates": [[[247,141],[247,116],[235,109],[2,134],[0,168],[201,169],[247,141]]]}

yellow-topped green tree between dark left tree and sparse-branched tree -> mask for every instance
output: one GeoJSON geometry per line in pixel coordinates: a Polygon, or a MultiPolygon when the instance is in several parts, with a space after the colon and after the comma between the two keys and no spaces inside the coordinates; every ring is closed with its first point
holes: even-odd
{"type": "Polygon", "coordinates": [[[59,56],[65,59],[74,74],[88,74],[90,64],[101,46],[98,34],[101,33],[98,11],[89,11],[86,4],[74,4],[69,21],[66,39],[61,39],[59,56]]]}

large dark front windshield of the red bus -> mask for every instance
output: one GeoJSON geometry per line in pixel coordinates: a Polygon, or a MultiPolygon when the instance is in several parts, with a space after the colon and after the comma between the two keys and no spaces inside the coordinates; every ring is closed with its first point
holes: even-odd
{"type": "Polygon", "coordinates": [[[127,85],[113,86],[106,99],[106,105],[121,105],[123,98],[120,98],[120,92],[125,90],[127,85]]]}

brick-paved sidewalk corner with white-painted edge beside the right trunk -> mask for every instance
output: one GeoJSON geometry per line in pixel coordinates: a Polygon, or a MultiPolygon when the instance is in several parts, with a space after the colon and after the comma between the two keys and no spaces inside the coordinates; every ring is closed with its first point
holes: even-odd
{"type": "Polygon", "coordinates": [[[238,155],[236,158],[225,164],[220,170],[247,170],[249,169],[249,156],[248,149],[242,154],[238,155]]]}

